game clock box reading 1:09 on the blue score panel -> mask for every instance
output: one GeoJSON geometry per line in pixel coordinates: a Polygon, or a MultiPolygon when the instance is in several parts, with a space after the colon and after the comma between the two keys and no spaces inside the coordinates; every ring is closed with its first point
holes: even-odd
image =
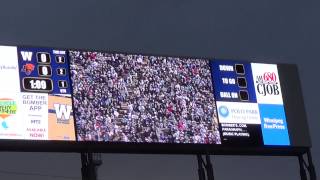
{"type": "Polygon", "coordinates": [[[27,77],[23,79],[23,89],[26,91],[50,92],[53,89],[52,80],[48,78],[27,77]]]}

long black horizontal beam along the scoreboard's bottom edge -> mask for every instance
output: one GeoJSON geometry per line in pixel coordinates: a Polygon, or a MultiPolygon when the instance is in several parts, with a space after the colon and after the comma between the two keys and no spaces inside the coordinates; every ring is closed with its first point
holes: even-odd
{"type": "Polygon", "coordinates": [[[0,140],[3,152],[125,153],[125,154],[210,154],[245,156],[298,156],[310,147],[220,146],[205,144],[164,144],[124,142],[76,142],[45,140],[0,140]]]}

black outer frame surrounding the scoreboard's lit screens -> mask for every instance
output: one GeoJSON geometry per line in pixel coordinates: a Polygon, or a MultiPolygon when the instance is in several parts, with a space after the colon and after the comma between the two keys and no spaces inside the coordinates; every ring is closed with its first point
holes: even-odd
{"type": "MultiPolygon", "coordinates": [[[[16,45],[8,45],[2,44],[3,46],[16,46],[16,45]]],[[[106,51],[106,50],[93,50],[93,49],[75,49],[75,48],[56,48],[56,47],[43,47],[43,46],[30,46],[30,45],[22,45],[16,47],[28,47],[28,48],[52,48],[56,50],[65,50],[68,51],[95,51],[95,52],[106,52],[106,53],[123,53],[123,54],[139,54],[139,55],[146,55],[146,56],[162,56],[162,57],[181,57],[181,58],[201,58],[201,59],[209,59],[213,60],[212,57],[193,57],[193,56],[177,56],[177,55],[164,55],[164,54],[150,54],[150,53],[137,53],[137,52],[119,52],[119,51],[106,51]]],[[[227,60],[227,59],[225,59],[227,60]]],[[[51,59],[52,61],[52,59],[51,59]]],[[[241,60],[243,62],[248,62],[245,60],[241,60]]],[[[254,61],[257,62],[257,61],[254,61]]],[[[259,62],[261,63],[261,62],[259,62]]],[[[271,64],[271,63],[265,63],[271,64]]],[[[297,66],[287,63],[277,63],[277,65],[283,67],[291,67],[295,69],[291,73],[297,73],[297,66]]],[[[70,62],[69,62],[69,79],[71,83],[71,75],[70,75],[70,62]]],[[[280,75],[282,77],[282,74],[280,75]]],[[[304,109],[304,103],[302,96],[302,90],[300,85],[300,79],[298,74],[296,74],[295,85],[298,87],[296,92],[300,94],[300,98],[298,102],[302,103],[301,106],[297,107],[297,103],[294,104],[294,107],[289,108],[290,111],[297,110],[299,108],[299,117],[303,117],[303,131],[305,135],[303,137],[298,137],[302,133],[299,132],[297,136],[298,144],[302,141],[306,140],[305,143],[302,145],[293,145],[293,146],[270,146],[270,145],[263,145],[263,146],[244,146],[244,145],[223,145],[223,144],[173,144],[173,143],[133,143],[133,142],[98,142],[98,141],[78,141],[77,135],[75,141],[57,141],[57,140],[8,140],[8,139],[1,139],[0,140],[0,151],[19,151],[19,152],[97,152],[97,153],[134,153],[134,154],[214,154],[214,155],[272,155],[272,156],[297,156],[300,154],[306,153],[311,147],[311,139],[309,135],[308,123],[306,119],[306,112],[304,109]],[[307,139],[305,139],[307,138],[307,139]]],[[[282,84],[285,84],[286,81],[281,81],[282,84]]],[[[72,85],[71,87],[71,95],[72,95],[72,85]]],[[[290,86],[292,88],[292,85],[290,86]]],[[[293,93],[284,92],[283,95],[287,96],[284,97],[284,105],[285,109],[287,109],[287,102],[288,98],[292,98],[293,93]]],[[[72,106],[73,98],[72,99],[72,106]]],[[[216,100],[215,100],[216,101],[216,100]]],[[[290,102],[293,100],[291,99],[290,102]]],[[[74,107],[73,107],[74,108],[74,107]]],[[[290,112],[292,113],[292,112],[290,112]]],[[[287,115],[287,112],[286,112],[287,115]]],[[[288,118],[291,118],[292,115],[288,118]]],[[[76,121],[76,120],[74,120],[76,121]]],[[[290,122],[290,120],[287,120],[290,122]]],[[[288,123],[290,124],[290,123],[288,123]]],[[[301,123],[295,122],[294,125],[301,123]]],[[[75,132],[77,132],[76,123],[74,123],[75,132]]],[[[289,135],[291,136],[290,128],[289,135]]],[[[294,129],[297,131],[297,128],[294,129]]],[[[220,131],[219,131],[220,132],[220,131]]]]}

